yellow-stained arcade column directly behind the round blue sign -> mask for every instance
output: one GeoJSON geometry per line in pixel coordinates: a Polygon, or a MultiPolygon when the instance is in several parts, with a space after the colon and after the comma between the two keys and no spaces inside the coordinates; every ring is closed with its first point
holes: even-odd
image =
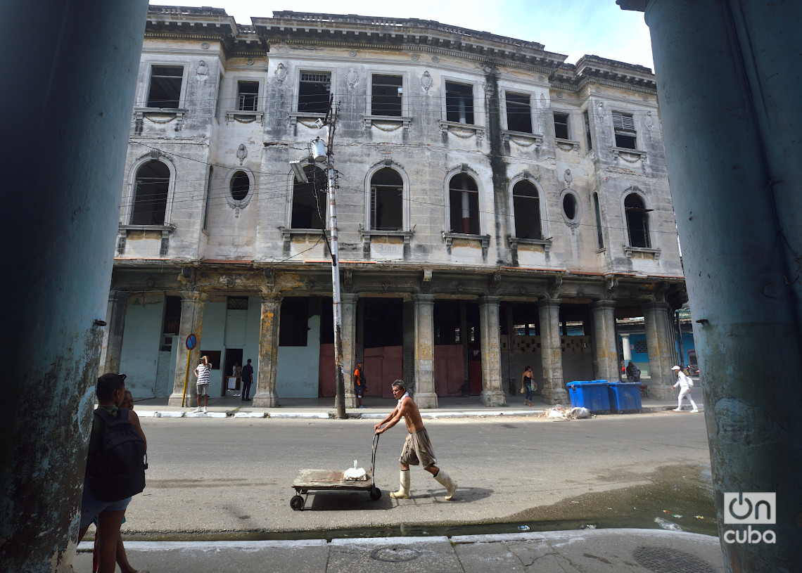
{"type": "Polygon", "coordinates": [[[170,406],[195,406],[197,386],[194,370],[201,361],[201,330],[206,296],[196,291],[181,293],[181,321],[178,326],[178,350],[176,352],[176,377],[172,383],[172,394],[167,403],[170,406]],[[187,337],[195,335],[197,344],[187,349],[187,337]],[[183,398],[183,400],[182,400],[183,398]],[[183,404],[182,404],[183,402],[183,404]]]}

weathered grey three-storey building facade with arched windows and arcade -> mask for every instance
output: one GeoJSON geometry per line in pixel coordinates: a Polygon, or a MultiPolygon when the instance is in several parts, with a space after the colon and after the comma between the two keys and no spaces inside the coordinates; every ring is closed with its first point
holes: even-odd
{"type": "Polygon", "coordinates": [[[423,407],[498,405],[532,365],[565,403],[565,382],[618,379],[616,318],[644,317],[669,395],[684,281],[650,70],[431,21],[167,6],[148,14],[101,369],[180,404],[201,353],[219,394],[251,358],[254,405],[334,395],[308,151],[330,99],[346,381],[364,360],[368,396],[403,378],[423,407]]]}

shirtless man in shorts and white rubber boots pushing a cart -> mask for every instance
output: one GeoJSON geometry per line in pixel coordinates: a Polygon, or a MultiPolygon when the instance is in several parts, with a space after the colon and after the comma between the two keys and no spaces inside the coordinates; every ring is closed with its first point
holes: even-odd
{"type": "Polygon", "coordinates": [[[431,442],[429,442],[429,434],[426,428],[423,427],[423,420],[420,418],[420,411],[415,402],[412,401],[407,387],[402,380],[393,382],[393,397],[399,401],[399,405],[395,407],[387,418],[373,426],[376,434],[383,434],[391,427],[399,423],[401,418],[407,422],[407,441],[403,444],[401,451],[401,489],[393,491],[390,494],[391,498],[409,499],[409,466],[422,465],[424,470],[427,470],[439,482],[441,486],[446,488],[446,501],[451,501],[454,498],[456,491],[456,482],[449,478],[448,475],[435,466],[437,460],[435,459],[435,452],[431,449],[431,442]],[[384,427],[382,427],[384,426],[384,427]]]}

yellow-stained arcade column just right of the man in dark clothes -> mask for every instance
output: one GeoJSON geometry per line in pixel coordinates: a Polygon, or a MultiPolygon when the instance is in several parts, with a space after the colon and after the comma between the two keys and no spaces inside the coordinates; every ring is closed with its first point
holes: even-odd
{"type": "Polygon", "coordinates": [[[282,315],[282,295],[262,293],[261,321],[259,325],[259,367],[256,376],[256,393],[253,406],[278,406],[276,373],[278,370],[278,326],[282,315]]]}

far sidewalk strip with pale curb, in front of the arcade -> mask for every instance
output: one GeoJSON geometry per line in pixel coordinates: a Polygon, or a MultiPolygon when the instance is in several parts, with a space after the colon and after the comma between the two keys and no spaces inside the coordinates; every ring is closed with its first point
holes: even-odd
{"type": "MultiPolygon", "coordinates": [[[[697,393],[699,394],[699,393],[697,393]]],[[[701,395],[699,394],[701,398],[701,395]]],[[[516,396],[510,400],[509,406],[485,407],[479,402],[478,396],[468,397],[439,397],[438,407],[421,410],[423,418],[478,418],[484,416],[537,416],[544,414],[553,406],[539,402],[535,406],[523,406],[523,400],[516,396]]],[[[167,398],[150,398],[134,402],[134,410],[143,418],[334,418],[334,398],[284,398],[281,406],[277,408],[260,408],[251,406],[252,402],[242,402],[238,396],[209,397],[209,413],[195,414],[195,405],[168,406],[167,398]]],[[[349,418],[379,419],[381,420],[395,408],[392,398],[365,397],[364,408],[348,408],[346,414],[349,418]]],[[[697,401],[703,410],[701,399],[697,401]]],[[[570,406],[565,404],[564,406],[570,406]]],[[[660,410],[672,410],[677,402],[658,401],[651,398],[642,398],[642,410],[632,410],[625,414],[638,414],[660,410]]],[[[684,406],[683,414],[690,411],[690,406],[684,406]]],[[[609,413],[593,413],[609,414],[609,413]]],[[[612,413],[615,414],[615,413],[612,413]]],[[[677,414],[680,415],[680,414],[677,414]]]]}

